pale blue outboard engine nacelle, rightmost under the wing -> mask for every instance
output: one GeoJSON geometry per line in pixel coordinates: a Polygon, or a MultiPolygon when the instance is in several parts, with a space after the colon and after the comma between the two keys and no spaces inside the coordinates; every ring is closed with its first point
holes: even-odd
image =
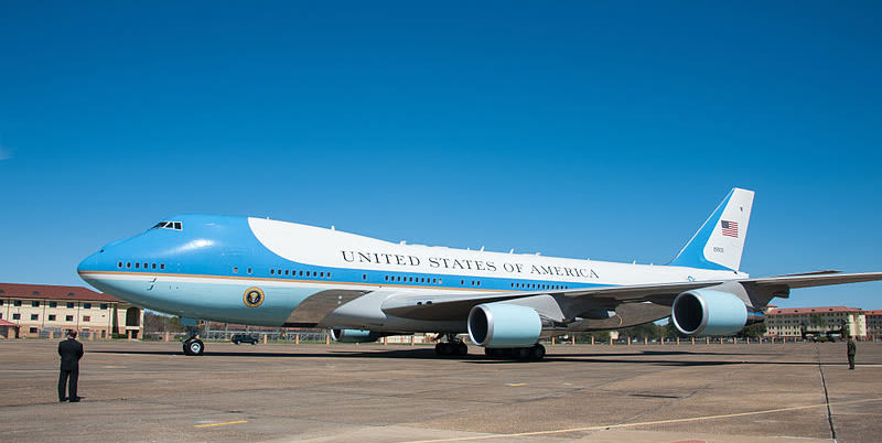
{"type": "Polygon", "coordinates": [[[738,295],[711,289],[677,295],[670,316],[674,327],[690,337],[735,334],[752,317],[747,305],[738,295]]]}

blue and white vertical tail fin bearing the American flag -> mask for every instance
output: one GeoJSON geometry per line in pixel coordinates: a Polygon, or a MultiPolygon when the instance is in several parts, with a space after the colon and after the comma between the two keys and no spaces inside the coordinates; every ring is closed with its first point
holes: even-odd
{"type": "Polygon", "coordinates": [[[669,264],[738,271],[752,206],[753,191],[733,188],[669,264]]]}

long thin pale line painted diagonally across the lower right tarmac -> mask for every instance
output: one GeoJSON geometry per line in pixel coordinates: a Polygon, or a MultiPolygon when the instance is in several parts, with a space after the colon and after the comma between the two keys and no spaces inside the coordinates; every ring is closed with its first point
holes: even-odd
{"type": "MultiPolygon", "coordinates": [[[[882,397],[878,397],[878,398],[873,398],[873,399],[863,399],[863,400],[839,401],[839,402],[829,403],[829,404],[830,406],[858,404],[858,403],[870,403],[870,402],[873,402],[873,401],[882,401],[882,397]]],[[[406,442],[406,443],[462,442],[462,441],[469,441],[469,440],[512,439],[512,437],[516,437],[516,436],[563,434],[563,433],[567,433],[567,432],[603,431],[603,430],[610,430],[610,429],[650,426],[650,425],[655,425],[655,424],[685,423],[685,422],[690,422],[690,421],[730,419],[730,418],[746,417],[746,415],[762,415],[762,414],[766,414],[766,413],[799,411],[799,410],[803,410],[803,409],[813,409],[813,408],[827,408],[827,403],[806,404],[806,406],[800,406],[800,407],[777,408],[777,409],[764,409],[762,411],[735,412],[735,413],[727,413],[727,414],[720,414],[720,415],[690,417],[690,418],[687,418],[687,419],[656,420],[656,421],[644,421],[644,422],[637,422],[637,423],[601,424],[601,425],[596,425],[596,426],[560,429],[560,430],[556,430],[556,431],[534,431],[534,432],[520,432],[520,433],[516,433],[516,434],[486,434],[486,435],[461,436],[461,437],[438,439],[438,440],[413,440],[413,441],[409,441],[409,442],[406,442]]]]}

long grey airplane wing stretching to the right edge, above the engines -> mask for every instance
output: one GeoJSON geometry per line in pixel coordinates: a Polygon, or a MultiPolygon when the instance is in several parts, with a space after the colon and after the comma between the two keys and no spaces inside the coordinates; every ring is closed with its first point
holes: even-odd
{"type": "Polygon", "coordinates": [[[677,283],[610,285],[555,291],[533,292],[466,292],[459,294],[408,294],[399,293],[383,303],[383,312],[412,320],[463,320],[475,305],[535,295],[563,295],[566,298],[592,298],[599,305],[614,307],[622,303],[654,302],[670,305],[680,293],[693,289],[710,288],[727,282],[739,282],[750,290],[786,291],[796,288],[829,284],[858,283],[882,280],[882,272],[841,273],[821,271],[742,280],[708,280],[677,283]]]}

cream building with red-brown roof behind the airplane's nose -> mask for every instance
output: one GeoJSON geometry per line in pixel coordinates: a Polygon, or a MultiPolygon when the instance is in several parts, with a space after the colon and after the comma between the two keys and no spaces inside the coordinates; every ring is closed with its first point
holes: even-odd
{"type": "Polygon", "coordinates": [[[11,322],[0,338],[56,338],[75,329],[83,338],[143,335],[143,310],[80,287],[0,283],[0,320],[11,322]]]}

